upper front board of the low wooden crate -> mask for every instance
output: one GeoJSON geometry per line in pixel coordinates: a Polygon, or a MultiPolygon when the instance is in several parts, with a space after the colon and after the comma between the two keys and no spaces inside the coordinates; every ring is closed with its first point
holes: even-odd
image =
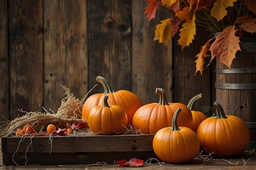
{"type": "Polygon", "coordinates": [[[95,135],[3,137],[2,153],[63,153],[63,152],[146,152],[153,151],[154,135],[95,135]],[[29,147],[30,146],[30,147],[29,147]]]}

